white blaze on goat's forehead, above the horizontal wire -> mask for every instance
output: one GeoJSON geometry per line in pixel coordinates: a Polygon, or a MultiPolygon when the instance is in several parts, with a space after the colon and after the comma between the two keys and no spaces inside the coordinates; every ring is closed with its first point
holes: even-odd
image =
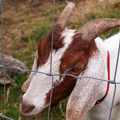
{"type": "MultiPolygon", "coordinates": [[[[64,40],[63,40],[64,46],[59,48],[57,51],[56,50],[52,51],[52,68],[53,68],[52,71],[54,73],[59,72],[61,58],[64,55],[67,48],[72,43],[74,34],[75,34],[74,30],[65,29],[61,34],[61,37],[64,37],[64,40]]],[[[49,57],[46,60],[46,63],[43,64],[42,66],[39,66],[38,71],[49,73],[50,72],[50,61],[51,61],[51,52],[49,53],[49,57]]]]}

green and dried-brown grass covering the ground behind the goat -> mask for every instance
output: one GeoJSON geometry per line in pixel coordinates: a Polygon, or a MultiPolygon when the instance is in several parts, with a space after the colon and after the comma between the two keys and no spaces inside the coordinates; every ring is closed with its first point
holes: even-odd
{"type": "MultiPolygon", "coordinates": [[[[3,51],[8,55],[22,60],[26,63],[28,69],[32,68],[35,51],[40,40],[48,34],[52,24],[52,4],[21,3],[19,11],[14,9],[3,12],[4,19],[4,44],[3,51]],[[9,29],[8,29],[9,28],[9,29]]],[[[55,5],[55,22],[57,21],[65,4],[55,5]]],[[[120,2],[107,0],[102,3],[95,0],[76,2],[76,9],[71,17],[68,28],[77,29],[88,21],[97,18],[119,18],[120,19],[120,2]],[[83,8],[84,6],[84,8],[83,8]]],[[[101,35],[103,39],[117,33],[119,28],[114,28],[101,35]]],[[[46,120],[47,111],[33,118],[23,118],[19,114],[19,104],[22,99],[21,86],[27,79],[28,73],[12,74],[11,79],[15,80],[15,86],[6,86],[6,96],[9,92],[8,101],[6,102],[6,115],[15,120],[46,120]]],[[[0,113],[3,112],[4,88],[0,85],[0,113]]],[[[61,102],[62,111],[65,114],[68,98],[61,102]]],[[[1,118],[0,118],[1,119],[1,118]]],[[[51,120],[65,120],[61,113],[60,106],[51,109],[51,120]]]]}

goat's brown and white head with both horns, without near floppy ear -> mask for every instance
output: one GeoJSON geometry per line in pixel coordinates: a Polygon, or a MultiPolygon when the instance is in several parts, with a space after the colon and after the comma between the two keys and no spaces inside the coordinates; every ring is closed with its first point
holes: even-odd
{"type": "MultiPolygon", "coordinates": [[[[33,70],[49,73],[52,52],[53,74],[67,73],[78,76],[82,71],[84,72],[89,58],[98,51],[94,39],[120,25],[120,20],[117,19],[98,19],[77,31],[65,29],[73,8],[73,3],[69,3],[54,27],[53,51],[51,51],[52,31],[39,43],[33,70]]],[[[52,106],[67,97],[76,84],[76,79],[71,76],[31,73],[22,87],[26,91],[20,104],[20,112],[23,116],[34,116],[49,106],[52,77],[54,78],[52,106]]]]}

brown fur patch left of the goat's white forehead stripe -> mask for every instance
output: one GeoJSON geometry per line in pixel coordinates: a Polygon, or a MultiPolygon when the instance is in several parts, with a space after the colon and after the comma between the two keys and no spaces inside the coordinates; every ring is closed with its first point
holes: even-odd
{"type": "MultiPolygon", "coordinates": [[[[53,49],[57,50],[63,47],[63,39],[61,38],[61,32],[63,29],[56,25],[54,27],[53,49]]],[[[37,68],[47,61],[51,52],[52,30],[44,37],[38,45],[38,63],[37,68]]]]}

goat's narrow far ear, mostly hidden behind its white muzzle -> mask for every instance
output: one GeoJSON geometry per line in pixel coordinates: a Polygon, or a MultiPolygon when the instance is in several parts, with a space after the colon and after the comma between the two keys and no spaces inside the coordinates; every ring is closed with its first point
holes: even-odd
{"type": "MultiPolygon", "coordinates": [[[[37,59],[38,59],[38,51],[35,53],[35,59],[34,59],[33,67],[32,67],[32,70],[34,71],[37,70],[37,59]]],[[[35,75],[35,72],[31,72],[29,75],[29,78],[23,83],[22,88],[21,88],[23,92],[27,91],[34,75],[35,75]]]]}

